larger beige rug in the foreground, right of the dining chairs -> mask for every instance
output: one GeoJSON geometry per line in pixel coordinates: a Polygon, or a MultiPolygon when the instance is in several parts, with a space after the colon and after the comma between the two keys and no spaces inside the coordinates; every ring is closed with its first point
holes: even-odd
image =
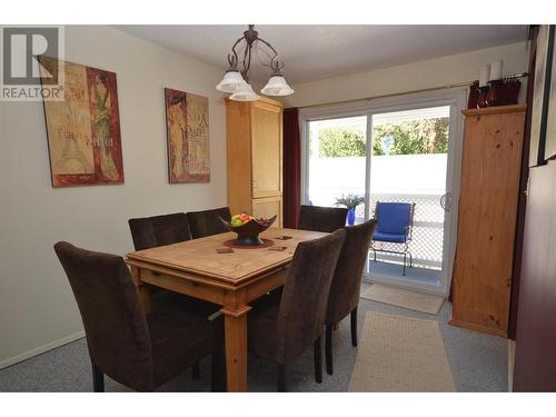
{"type": "Polygon", "coordinates": [[[349,391],[455,391],[438,321],[367,312],[349,391]]]}

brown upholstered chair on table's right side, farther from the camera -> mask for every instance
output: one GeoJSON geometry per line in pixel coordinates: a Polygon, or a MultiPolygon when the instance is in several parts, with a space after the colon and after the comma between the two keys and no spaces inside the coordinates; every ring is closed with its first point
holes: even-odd
{"type": "Polygon", "coordinates": [[[334,373],[332,327],[347,315],[350,315],[351,320],[351,345],[357,346],[357,306],[365,262],[376,225],[376,220],[369,220],[361,225],[345,227],[346,240],[334,272],[326,310],[326,371],[329,375],[334,373]]]}

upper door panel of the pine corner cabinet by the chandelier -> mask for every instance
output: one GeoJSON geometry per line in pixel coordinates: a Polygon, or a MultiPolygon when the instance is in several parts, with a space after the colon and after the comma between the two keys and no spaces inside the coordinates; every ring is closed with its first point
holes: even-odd
{"type": "Polygon", "coordinates": [[[252,197],[281,193],[281,109],[256,102],[251,117],[252,197]]]}

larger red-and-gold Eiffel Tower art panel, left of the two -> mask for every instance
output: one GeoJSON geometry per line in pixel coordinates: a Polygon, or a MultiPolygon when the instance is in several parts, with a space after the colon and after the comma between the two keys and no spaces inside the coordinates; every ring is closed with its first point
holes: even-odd
{"type": "Polygon", "coordinates": [[[123,183],[116,73],[40,57],[41,80],[64,71],[62,101],[44,99],[52,187],[123,183]]]}

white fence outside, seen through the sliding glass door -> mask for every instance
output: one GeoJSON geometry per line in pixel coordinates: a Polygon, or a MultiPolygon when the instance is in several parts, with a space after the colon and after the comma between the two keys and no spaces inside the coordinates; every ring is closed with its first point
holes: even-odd
{"type": "MultiPolygon", "coordinates": [[[[440,197],[446,178],[446,153],[373,157],[370,168],[370,217],[376,201],[415,202],[413,240],[409,250],[414,265],[440,269],[443,260],[444,210],[440,197]]],[[[308,200],[315,206],[334,206],[341,195],[365,195],[366,158],[311,158],[308,200]]],[[[356,210],[365,219],[365,206],[356,210]]],[[[394,249],[396,245],[388,245],[394,249]]],[[[397,245],[399,248],[399,245],[397,245]]],[[[381,259],[400,261],[396,255],[381,259]]]]}

